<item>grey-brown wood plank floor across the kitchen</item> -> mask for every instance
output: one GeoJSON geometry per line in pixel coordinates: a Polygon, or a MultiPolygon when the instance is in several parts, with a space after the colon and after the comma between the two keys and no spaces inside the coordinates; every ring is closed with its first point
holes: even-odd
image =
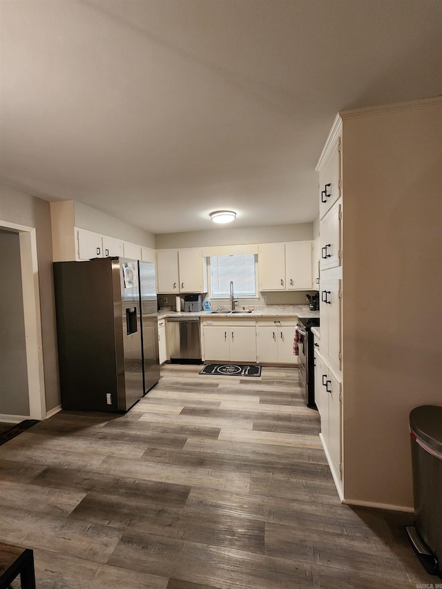
{"type": "Polygon", "coordinates": [[[338,499],[296,368],[166,365],[126,415],[60,412],[0,446],[0,540],[37,588],[416,588],[410,514],[338,499]]]}

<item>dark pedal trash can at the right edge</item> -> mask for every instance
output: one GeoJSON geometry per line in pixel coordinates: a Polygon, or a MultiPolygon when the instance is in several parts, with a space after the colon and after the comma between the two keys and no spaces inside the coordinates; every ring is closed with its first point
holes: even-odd
{"type": "Polygon", "coordinates": [[[441,574],[442,407],[422,405],[410,413],[414,526],[407,532],[427,572],[441,574]]]}

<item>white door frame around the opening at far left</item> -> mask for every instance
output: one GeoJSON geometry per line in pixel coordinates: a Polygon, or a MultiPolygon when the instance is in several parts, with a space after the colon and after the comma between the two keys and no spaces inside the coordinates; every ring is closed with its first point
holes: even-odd
{"type": "Polygon", "coordinates": [[[19,234],[26,365],[28,368],[29,416],[31,419],[45,419],[46,395],[43,340],[41,336],[37,231],[35,227],[2,220],[0,220],[0,228],[19,234]]]}

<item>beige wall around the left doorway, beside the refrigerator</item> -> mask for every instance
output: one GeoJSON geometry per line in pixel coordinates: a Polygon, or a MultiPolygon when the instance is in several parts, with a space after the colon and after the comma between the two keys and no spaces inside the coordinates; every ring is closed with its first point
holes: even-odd
{"type": "MultiPolygon", "coordinates": [[[[46,409],[49,411],[60,403],[49,203],[0,186],[0,226],[1,221],[36,229],[44,382],[46,409]]],[[[26,289],[26,284],[23,284],[23,289],[26,289]]]]}

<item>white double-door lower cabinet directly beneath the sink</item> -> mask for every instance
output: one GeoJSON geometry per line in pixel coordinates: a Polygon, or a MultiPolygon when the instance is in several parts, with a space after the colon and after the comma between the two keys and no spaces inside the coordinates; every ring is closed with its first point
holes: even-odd
{"type": "Polygon", "coordinates": [[[203,322],[204,360],[256,362],[256,325],[203,322]]]}

